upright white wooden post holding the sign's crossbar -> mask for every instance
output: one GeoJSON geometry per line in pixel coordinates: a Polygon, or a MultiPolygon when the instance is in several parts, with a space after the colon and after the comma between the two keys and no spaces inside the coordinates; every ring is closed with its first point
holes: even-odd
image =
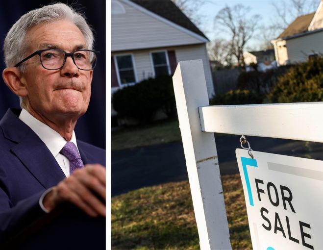
{"type": "Polygon", "coordinates": [[[173,82],[200,248],[231,249],[214,134],[199,119],[209,105],[202,60],[179,62],[173,82]]]}

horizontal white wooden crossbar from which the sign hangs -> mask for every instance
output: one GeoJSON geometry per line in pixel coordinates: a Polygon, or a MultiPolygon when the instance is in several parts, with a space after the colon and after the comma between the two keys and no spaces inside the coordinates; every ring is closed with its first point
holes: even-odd
{"type": "Polygon", "coordinates": [[[206,106],[199,115],[205,132],[323,143],[323,102],[206,106]]]}

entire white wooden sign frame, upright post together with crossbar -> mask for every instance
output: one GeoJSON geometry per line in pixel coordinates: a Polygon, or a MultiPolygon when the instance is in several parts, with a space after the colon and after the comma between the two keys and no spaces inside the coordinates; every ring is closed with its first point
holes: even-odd
{"type": "Polygon", "coordinates": [[[213,132],[323,142],[323,102],[209,106],[202,60],[173,82],[200,248],[231,249],[213,132]]]}

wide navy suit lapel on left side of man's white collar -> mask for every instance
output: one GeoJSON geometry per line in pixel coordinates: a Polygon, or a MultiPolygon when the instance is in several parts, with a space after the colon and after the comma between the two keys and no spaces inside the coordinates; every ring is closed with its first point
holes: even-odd
{"type": "Polygon", "coordinates": [[[18,143],[11,151],[45,188],[66,177],[50,150],[27,125],[10,110],[4,118],[0,125],[5,137],[18,143]]]}

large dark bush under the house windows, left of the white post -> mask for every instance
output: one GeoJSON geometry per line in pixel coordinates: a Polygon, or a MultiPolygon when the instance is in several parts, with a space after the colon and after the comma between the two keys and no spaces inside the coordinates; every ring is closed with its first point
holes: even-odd
{"type": "Polygon", "coordinates": [[[171,76],[149,78],[126,86],[112,96],[113,108],[122,118],[134,118],[149,123],[161,109],[168,117],[176,114],[173,81],[171,76]]]}

